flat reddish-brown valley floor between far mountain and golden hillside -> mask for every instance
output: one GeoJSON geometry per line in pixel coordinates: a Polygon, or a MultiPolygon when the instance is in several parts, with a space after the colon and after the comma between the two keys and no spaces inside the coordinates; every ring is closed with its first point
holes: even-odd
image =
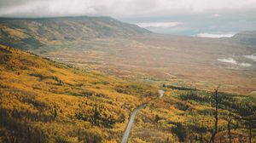
{"type": "Polygon", "coordinates": [[[90,39],[67,43],[61,49],[58,45],[53,47],[56,49],[42,47],[34,51],[59,62],[118,77],[199,89],[212,89],[222,84],[225,91],[240,94],[250,94],[256,86],[255,61],[244,57],[256,50],[228,40],[149,35],[90,39]],[[48,52],[42,53],[43,49],[48,52]],[[227,58],[249,66],[219,61],[227,58]]]}

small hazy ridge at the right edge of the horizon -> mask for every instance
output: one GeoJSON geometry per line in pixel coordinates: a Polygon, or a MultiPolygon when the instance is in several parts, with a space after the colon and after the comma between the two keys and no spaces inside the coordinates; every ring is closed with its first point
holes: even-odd
{"type": "Polygon", "coordinates": [[[241,31],[232,37],[238,43],[256,47],[256,31],[241,31]]]}

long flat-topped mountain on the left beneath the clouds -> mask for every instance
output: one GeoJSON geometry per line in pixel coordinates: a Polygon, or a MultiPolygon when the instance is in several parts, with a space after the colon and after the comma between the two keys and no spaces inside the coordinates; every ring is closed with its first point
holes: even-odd
{"type": "Polygon", "coordinates": [[[63,41],[90,38],[131,37],[150,31],[111,17],[58,17],[40,19],[0,19],[0,43],[29,49],[63,41]]]}

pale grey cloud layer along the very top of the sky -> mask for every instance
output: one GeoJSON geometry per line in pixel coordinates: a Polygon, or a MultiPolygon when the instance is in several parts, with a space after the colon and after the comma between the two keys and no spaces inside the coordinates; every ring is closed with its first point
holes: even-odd
{"type": "Polygon", "coordinates": [[[147,17],[256,9],[256,0],[1,0],[0,16],[147,17]]]}

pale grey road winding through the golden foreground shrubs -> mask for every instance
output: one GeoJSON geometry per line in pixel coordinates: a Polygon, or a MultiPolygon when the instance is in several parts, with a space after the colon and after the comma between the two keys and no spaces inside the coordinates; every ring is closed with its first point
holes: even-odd
{"type": "MultiPolygon", "coordinates": [[[[165,94],[165,91],[164,90],[158,90],[158,93],[159,93],[159,96],[158,98],[162,98],[165,94]]],[[[143,104],[141,106],[137,106],[136,109],[134,109],[134,111],[131,113],[131,117],[130,117],[130,120],[126,126],[126,129],[125,129],[125,134],[122,138],[122,142],[121,143],[126,143],[127,140],[128,140],[128,137],[129,137],[129,134],[130,134],[130,131],[131,131],[131,126],[134,122],[134,119],[136,117],[136,114],[139,110],[143,109],[145,106],[147,106],[147,104],[143,104]]]]}

